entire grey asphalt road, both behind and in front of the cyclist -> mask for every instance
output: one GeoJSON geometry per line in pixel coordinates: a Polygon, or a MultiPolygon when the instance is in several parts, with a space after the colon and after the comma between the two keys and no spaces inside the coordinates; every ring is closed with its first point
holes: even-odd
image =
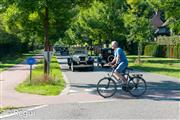
{"type": "MultiPolygon", "coordinates": [[[[59,58],[61,69],[70,82],[68,94],[84,93],[98,96],[96,84],[110,72],[110,69],[95,67],[93,72],[72,72],[66,62],[66,59],[59,58]]],[[[156,74],[143,75],[148,83],[148,91],[141,98],[133,98],[119,90],[112,98],[88,101],[87,97],[86,101],[75,103],[45,105],[38,109],[24,108],[21,112],[4,119],[180,120],[180,81],[156,74]]]]}

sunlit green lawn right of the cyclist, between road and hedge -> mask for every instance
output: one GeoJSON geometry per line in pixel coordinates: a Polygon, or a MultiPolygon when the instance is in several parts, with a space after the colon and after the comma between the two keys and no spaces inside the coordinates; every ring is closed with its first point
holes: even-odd
{"type": "Polygon", "coordinates": [[[137,56],[128,56],[129,67],[180,78],[180,59],[141,56],[142,63],[135,63],[137,56]]]}

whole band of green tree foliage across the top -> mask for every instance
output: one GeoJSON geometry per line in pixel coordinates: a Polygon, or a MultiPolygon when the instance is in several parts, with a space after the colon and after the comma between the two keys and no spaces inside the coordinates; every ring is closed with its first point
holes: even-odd
{"type": "Polygon", "coordinates": [[[172,34],[179,34],[179,6],[179,0],[1,0],[0,29],[30,46],[45,40],[50,45],[142,42],[152,38],[150,19],[157,11],[172,34]]]}

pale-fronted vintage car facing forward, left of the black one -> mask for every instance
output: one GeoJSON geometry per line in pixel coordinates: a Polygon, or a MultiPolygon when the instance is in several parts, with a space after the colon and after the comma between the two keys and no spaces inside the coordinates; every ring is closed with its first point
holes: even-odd
{"type": "Polygon", "coordinates": [[[77,68],[94,70],[94,59],[88,56],[86,49],[76,49],[67,59],[69,68],[74,71],[77,68]]]}

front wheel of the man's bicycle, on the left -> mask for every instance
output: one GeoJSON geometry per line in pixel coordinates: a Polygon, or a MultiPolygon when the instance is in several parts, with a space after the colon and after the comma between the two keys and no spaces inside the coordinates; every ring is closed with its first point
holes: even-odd
{"type": "Polygon", "coordinates": [[[116,82],[110,77],[102,78],[97,84],[97,91],[104,98],[111,97],[117,91],[116,82]]]}

